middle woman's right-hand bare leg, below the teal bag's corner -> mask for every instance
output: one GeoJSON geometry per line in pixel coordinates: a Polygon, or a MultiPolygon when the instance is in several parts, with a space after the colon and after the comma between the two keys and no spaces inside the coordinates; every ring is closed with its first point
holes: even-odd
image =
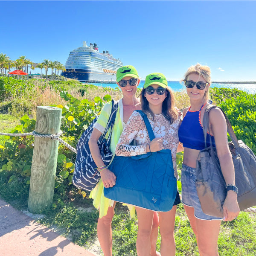
{"type": "Polygon", "coordinates": [[[174,225],[177,206],[169,212],[159,212],[161,256],[175,256],[174,225]]]}

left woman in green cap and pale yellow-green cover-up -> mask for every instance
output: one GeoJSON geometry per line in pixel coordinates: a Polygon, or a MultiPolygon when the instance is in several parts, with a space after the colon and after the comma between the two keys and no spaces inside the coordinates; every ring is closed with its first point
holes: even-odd
{"type": "MultiPolygon", "coordinates": [[[[115,152],[116,144],[119,140],[120,134],[122,133],[126,122],[131,116],[131,113],[133,113],[134,110],[141,109],[140,99],[136,97],[137,87],[140,83],[137,70],[131,65],[120,67],[116,71],[116,82],[123,93],[123,97],[118,101],[116,120],[113,125],[113,132],[111,135],[110,144],[110,149],[112,152],[115,152]]],[[[99,140],[99,137],[105,131],[105,127],[111,113],[111,107],[112,102],[108,102],[104,105],[99,115],[99,118],[94,125],[93,132],[89,140],[89,147],[93,160],[96,163],[97,167],[102,169],[102,171],[100,171],[101,179],[99,180],[99,183],[96,185],[93,191],[90,193],[90,198],[93,198],[94,207],[99,209],[97,234],[100,245],[102,247],[102,251],[105,256],[112,256],[111,222],[113,219],[114,207],[116,202],[105,198],[103,194],[103,187],[113,187],[116,183],[116,176],[113,174],[113,172],[108,170],[107,166],[104,165],[97,142],[99,140]]],[[[134,207],[128,207],[131,211],[131,216],[135,216],[134,207]]],[[[157,220],[157,218],[155,219],[157,220]]],[[[154,226],[155,228],[153,230],[152,236],[152,244],[154,244],[154,247],[152,248],[152,255],[157,256],[155,251],[155,244],[158,235],[158,222],[154,223],[154,226]]]]}

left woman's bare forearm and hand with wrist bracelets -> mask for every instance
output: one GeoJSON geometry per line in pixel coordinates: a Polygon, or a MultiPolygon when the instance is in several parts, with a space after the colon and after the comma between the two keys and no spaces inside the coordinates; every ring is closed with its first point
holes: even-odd
{"type": "MultiPolygon", "coordinates": [[[[105,166],[105,163],[102,161],[98,146],[98,140],[101,135],[101,131],[93,128],[93,132],[89,140],[89,148],[93,157],[93,161],[96,163],[96,166],[98,168],[101,166],[105,166]]],[[[102,170],[100,172],[100,176],[102,178],[103,185],[106,188],[113,187],[116,184],[116,175],[114,175],[114,173],[111,172],[109,169],[102,170]]]]}

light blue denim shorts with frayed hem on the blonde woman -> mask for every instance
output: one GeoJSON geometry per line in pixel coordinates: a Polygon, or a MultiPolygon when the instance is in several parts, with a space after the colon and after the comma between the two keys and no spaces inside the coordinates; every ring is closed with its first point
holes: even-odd
{"type": "Polygon", "coordinates": [[[194,207],[194,215],[201,220],[222,220],[222,218],[205,214],[201,209],[201,204],[195,188],[195,168],[182,165],[181,170],[181,202],[189,207],[194,207]]]}

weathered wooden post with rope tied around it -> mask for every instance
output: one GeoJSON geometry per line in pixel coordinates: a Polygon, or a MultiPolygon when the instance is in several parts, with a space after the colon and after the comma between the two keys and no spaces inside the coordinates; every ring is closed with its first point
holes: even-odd
{"type": "MultiPolygon", "coordinates": [[[[61,127],[61,108],[38,106],[35,131],[57,134],[61,127]]],[[[29,189],[29,212],[38,213],[52,204],[58,157],[58,140],[35,137],[29,189]]]]}

